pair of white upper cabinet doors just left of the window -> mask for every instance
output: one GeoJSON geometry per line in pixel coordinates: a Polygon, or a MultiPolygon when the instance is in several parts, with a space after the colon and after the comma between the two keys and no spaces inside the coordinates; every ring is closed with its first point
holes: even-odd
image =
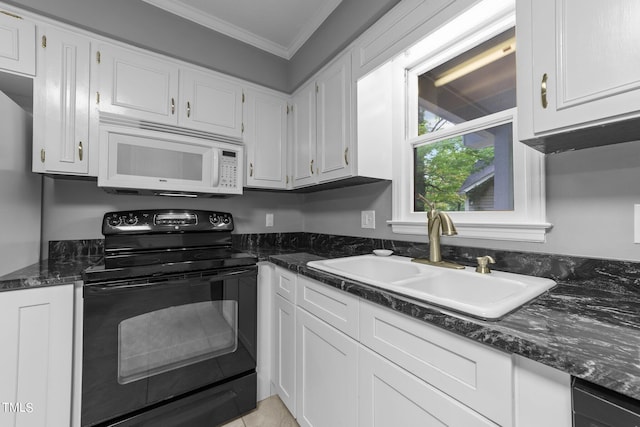
{"type": "Polygon", "coordinates": [[[293,185],[351,176],[351,52],[293,96],[293,185]]]}

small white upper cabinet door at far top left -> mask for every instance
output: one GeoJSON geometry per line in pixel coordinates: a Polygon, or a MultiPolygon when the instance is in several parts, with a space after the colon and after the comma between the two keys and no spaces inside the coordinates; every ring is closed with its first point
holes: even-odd
{"type": "Polygon", "coordinates": [[[36,26],[11,13],[0,13],[0,68],[36,73],[36,26]]]}

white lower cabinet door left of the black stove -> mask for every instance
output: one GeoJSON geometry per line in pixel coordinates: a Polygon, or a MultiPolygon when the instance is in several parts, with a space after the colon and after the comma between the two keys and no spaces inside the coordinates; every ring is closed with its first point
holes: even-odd
{"type": "Polygon", "coordinates": [[[73,285],[0,292],[0,425],[70,425],[73,285]]]}

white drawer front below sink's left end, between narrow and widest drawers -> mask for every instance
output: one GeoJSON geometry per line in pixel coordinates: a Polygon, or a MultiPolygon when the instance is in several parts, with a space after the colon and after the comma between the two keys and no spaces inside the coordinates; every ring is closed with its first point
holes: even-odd
{"type": "Polygon", "coordinates": [[[303,276],[298,276],[298,287],[299,307],[358,339],[357,297],[303,276]]]}

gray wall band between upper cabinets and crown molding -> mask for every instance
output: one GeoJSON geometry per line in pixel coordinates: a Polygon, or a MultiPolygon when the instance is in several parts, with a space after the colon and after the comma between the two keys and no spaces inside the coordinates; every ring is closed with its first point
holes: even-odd
{"type": "Polygon", "coordinates": [[[8,0],[6,3],[290,93],[398,1],[342,0],[291,61],[141,0],[8,0]]]}

